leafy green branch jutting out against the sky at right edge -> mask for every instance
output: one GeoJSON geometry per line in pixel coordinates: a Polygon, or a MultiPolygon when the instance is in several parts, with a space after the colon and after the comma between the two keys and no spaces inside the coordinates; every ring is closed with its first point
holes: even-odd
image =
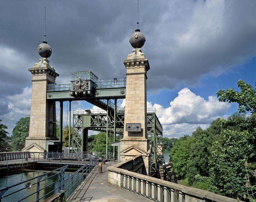
{"type": "MultiPolygon", "coordinates": [[[[255,82],[256,83],[256,82],[255,82]]],[[[217,92],[217,95],[219,98],[219,101],[221,102],[236,102],[239,105],[239,112],[245,113],[252,112],[256,113],[256,88],[253,89],[253,87],[247,83],[245,83],[242,80],[238,80],[237,82],[238,87],[241,89],[240,92],[235,91],[234,89],[228,89],[228,90],[219,90],[217,92]]]]}

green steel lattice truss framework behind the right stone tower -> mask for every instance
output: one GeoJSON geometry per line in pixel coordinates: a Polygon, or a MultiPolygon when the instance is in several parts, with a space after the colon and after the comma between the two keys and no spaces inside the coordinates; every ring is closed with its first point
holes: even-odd
{"type": "MultiPolygon", "coordinates": [[[[116,121],[114,115],[106,112],[100,112],[90,110],[90,112],[84,112],[81,110],[73,111],[73,149],[76,152],[83,151],[83,130],[84,128],[94,131],[107,132],[114,134],[114,124],[116,122],[116,134],[120,135],[120,139],[124,134],[124,111],[116,112],[116,121]],[[107,121],[108,119],[108,121],[107,121]]],[[[164,156],[162,149],[163,127],[161,126],[155,109],[149,110],[147,113],[147,131],[148,139],[152,145],[151,156],[151,176],[160,179],[165,179],[167,171],[164,164],[164,156]]]]}

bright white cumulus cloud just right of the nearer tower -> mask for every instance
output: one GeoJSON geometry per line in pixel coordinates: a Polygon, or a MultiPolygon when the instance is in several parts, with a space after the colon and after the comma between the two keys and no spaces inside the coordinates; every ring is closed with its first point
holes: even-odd
{"type": "MultiPolygon", "coordinates": [[[[122,106],[125,106],[125,99],[122,106]]],[[[178,96],[170,102],[170,107],[147,102],[147,108],[156,108],[156,115],[163,126],[163,135],[180,137],[191,134],[198,126],[207,128],[218,117],[226,118],[225,113],[231,104],[219,102],[216,96],[209,96],[208,100],[197,96],[188,88],[178,92],[178,96]]]]}

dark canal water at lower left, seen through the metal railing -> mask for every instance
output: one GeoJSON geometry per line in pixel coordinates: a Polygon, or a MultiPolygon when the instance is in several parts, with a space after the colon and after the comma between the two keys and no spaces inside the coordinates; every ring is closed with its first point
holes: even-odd
{"type": "MultiPolygon", "coordinates": [[[[45,170],[21,170],[20,172],[15,172],[15,173],[8,173],[6,175],[0,175],[0,188],[4,188],[6,186],[11,186],[13,184],[17,184],[20,183],[22,181],[25,181],[27,179],[33,178],[33,177],[37,177],[39,175],[42,175],[46,172],[49,171],[45,171],[45,170]]],[[[56,174],[58,172],[53,172],[50,174],[47,174],[43,179],[53,176],[54,174],[56,174]]],[[[64,179],[68,178],[68,176],[72,175],[73,173],[71,172],[65,172],[65,176],[64,179]]],[[[81,177],[81,181],[82,181],[81,177]]],[[[49,198],[53,193],[56,193],[58,190],[53,191],[54,189],[56,189],[58,187],[58,175],[55,175],[53,177],[50,177],[49,179],[46,179],[45,181],[40,182],[40,189],[42,189],[43,187],[49,185],[48,187],[46,187],[45,189],[43,189],[42,191],[40,191],[40,197],[44,196],[44,198],[42,198],[40,201],[44,201],[44,199],[49,198]],[[51,192],[53,191],[53,192],[51,192]]],[[[31,180],[30,183],[36,183],[37,178],[34,180],[31,180]]],[[[74,186],[74,190],[76,189],[76,187],[80,184],[81,182],[77,183],[76,186],[74,186]]],[[[18,186],[15,186],[13,188],[10,188],[9,190],[7,190],[4,194],[7,195],[9,193],[13,193],[14,191],[17,191],[21,188],[25,187],[25,184],[20,184],[18,186]]],[[[66,186],[65,186],[66,188],[66,186]]],[[[65,190],[68,190],[69,187],[67,187],[65,190]]],[[[15,202],[15,201],[19,201],[22,198],[24,198],[25,196],[28,196],[32,193],[36,192],[36,184],[33,185],[30,189],[23,189],[15,194],[12,194],[6,198],[2,199],[2,202],[15,202]]],[[[72,193],[72,191],[66,191],[67,197],[72,193]]],[[[31,201],[36,201],[36,194],[33,194],[32,196],[22,200],[24,202],[31,202],[31,201]]]]}

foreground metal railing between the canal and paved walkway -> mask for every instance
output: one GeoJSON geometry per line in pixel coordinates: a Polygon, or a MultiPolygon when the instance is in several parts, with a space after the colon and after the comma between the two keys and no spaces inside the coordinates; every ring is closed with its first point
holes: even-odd
{"type": "MultiPolygon", "coordinates": [[[[27,196],[23,198],[21,197],[19,198],[18,196],[16,196],[15,198],[18,198],[17,199],[18,201],[22,201],[24,199],[28,199],[29,197],[33,198],[36,196],[35,201],[39,202],[40,200],[49,198],[56,192],[60,193],[60,191],[64,191],[64,190],[66,191],[66,195],[69,196],[76,189],[76,187],[84,180],[84,178],[87,177],[87,175],[92,171],[92,169],[96,166],[98,167],[97,159],[98,159],[97,157],[91,159],[89,162],[87,162],[84,166],[82,166],[72,175],[68,176],[66,179],[64,179],[64,172],[68,167],[68,165],[52,170],[50,172],[44,173],[43,175],[30,178],[20,183],[4,187],[0,189],[0,202],[3,198],[7,199],[7,197],[11,196],[12,194],[16,194],[16,193],[20,194],[19,193],[20,191],[25,189],[30,189],[31,187],[34,187],[34,186],[36,186],[36,191],[29,193],[27,196]],[[56,179],[55,176],[58,176],[58,179],[56,179]],[[50,184],[45,183],[46,180],[48,180],[50,184]],[[40,184],[44,184],[43,187],[42,185],[40,186],[40,184]],[[50,188],[52,190],[50,191],[48,189],[49,192],[48,191],[45,192],[47,188],[50,188]]],[[[29,198],[29,201],[31,200],[33,199],[29,198]]]]}

